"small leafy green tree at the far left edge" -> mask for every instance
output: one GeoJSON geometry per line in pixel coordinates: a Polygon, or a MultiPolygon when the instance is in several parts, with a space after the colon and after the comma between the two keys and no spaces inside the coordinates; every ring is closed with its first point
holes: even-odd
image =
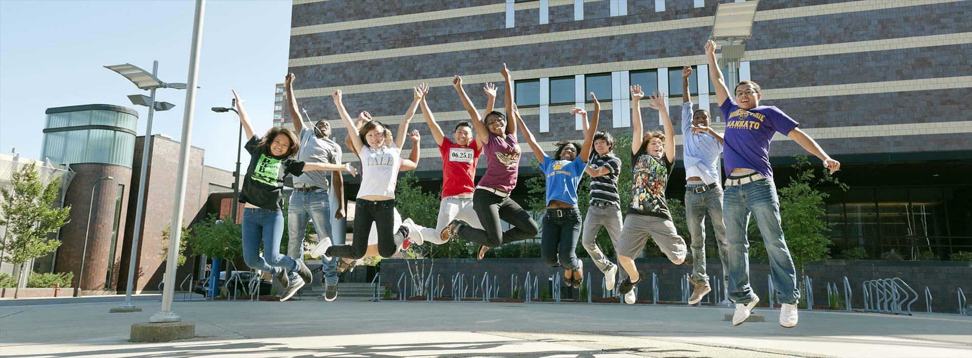
{"type": "MultiPolygon", "coordinates": [[[[11,191],[2,192],[0,225],[7,228],[7,233],[0,241],[0,250],[6,254],[6,261],[20,265],[19,281],[23,277],[24,263],[50,254],[60,246],[61,242],[49,234],[67,224],[71,207],[52,207],[60,194],[60,181],[52,180],[45,186],[34,163],[14,172],[12,184],[11,191]]],[[[17,298],[17,291],[14,298],[17,298]]]]}

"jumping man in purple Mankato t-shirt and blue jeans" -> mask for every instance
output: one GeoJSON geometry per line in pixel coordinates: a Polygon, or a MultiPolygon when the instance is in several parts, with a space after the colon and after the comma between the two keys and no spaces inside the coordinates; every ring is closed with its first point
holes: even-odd
{"type": "Polygon", "coordinates": [[[780,199],[773,183],[770,166],[770,141],[775,133],[793,139],[804,150],[823,161],[833,173],[841,163],[834,161],[820,149],[814,138],[798,128],[800,125],[774,106],[761,106],[759,85],[742,81],[736,86],[735,99],[729,97],[729,89],[715,61],[715,43],[706,43],[709,58],[709,74],[719,109],[726,119],[724,135],[725,195],[722,203],[722,220],[726,226],[726,271],[729,274],[727,288],[729,299],[736,303],[733,325],[746,321],[749,312],[759,303],[759,297],[749,286],[749,243],[746,240],[746,223],[751,212],[763,235],[763,242],[770,259],[773,287],[777,301],[781,303],[780,325],[791,328],[797,324],[796,304],[800,292],[796,286],[796,269],[793,258],[786,248],[780,221],[780,199]]]}

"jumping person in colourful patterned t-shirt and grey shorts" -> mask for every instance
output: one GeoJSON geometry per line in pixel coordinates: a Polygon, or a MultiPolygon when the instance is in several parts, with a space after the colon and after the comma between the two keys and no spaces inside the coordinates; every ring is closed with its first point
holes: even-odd
{"type": "Polygon", "coordinates": [[[635,268],[634,259],[642,253],[649,236],[673,264],[691,265],[691,257],[686,257],[685,240],[676,232],[672,213],[665,202],[665,188],[675,164],[675,128],[669,119],[665,92],[656,92],[648,98],[648,107],[661,114],[664,133],[656,130],[642,134],[642,97],[641,86],[631,88],[631,123],[634,125],[631,206],[621,230],[623,239],[616,247],[617,261],[624,269],[621,273],[627,276],[618,291],[624,295],[627,304],[635,303],[632,289],[644,276],[644,272],[635,268]]]}

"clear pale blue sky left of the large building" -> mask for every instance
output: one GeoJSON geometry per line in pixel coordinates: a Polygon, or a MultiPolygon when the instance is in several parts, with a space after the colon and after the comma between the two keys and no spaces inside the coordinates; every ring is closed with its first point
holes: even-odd
{"type": "MultiPolygon", "coordinates": [[[[0,1],[0,153],[17,148],[40,159],[50,107],[107,103],[139,112],[145,134],[148,107],[127,94],[144,93],[103,65],[131,63],[165,82],[187,82],[194,1],[0,1]]],[[[291,1],[210,0],[206,4],[196,92],[193,146],[205,163],[232,170],[238,123],[229,106],[237,90],[257,131],[273,118],[274,85],[287,71],[291,1]]],[[[180,140],[185,90],[157,90],[156,100],[176,104],[156,112],[153,133],[180,140]]],[[[246,153],[242,159],[248,161],[246,153]]],[[[245,168],[244,168],[245,169],[245,168]]]]}

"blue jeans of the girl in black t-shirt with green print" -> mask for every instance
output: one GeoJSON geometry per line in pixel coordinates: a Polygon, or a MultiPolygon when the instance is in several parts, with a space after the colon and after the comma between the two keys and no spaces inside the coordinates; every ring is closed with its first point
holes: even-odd
{"type": "Polygon", "coordinates": [[[283,210],[243,208],[243,260],[252,269],[277,274],[280,269],[297,269],[297,262],[280,253],[284,235],[283,210]],[[263,256],[260,257],[260,240],[263,256]]]}

